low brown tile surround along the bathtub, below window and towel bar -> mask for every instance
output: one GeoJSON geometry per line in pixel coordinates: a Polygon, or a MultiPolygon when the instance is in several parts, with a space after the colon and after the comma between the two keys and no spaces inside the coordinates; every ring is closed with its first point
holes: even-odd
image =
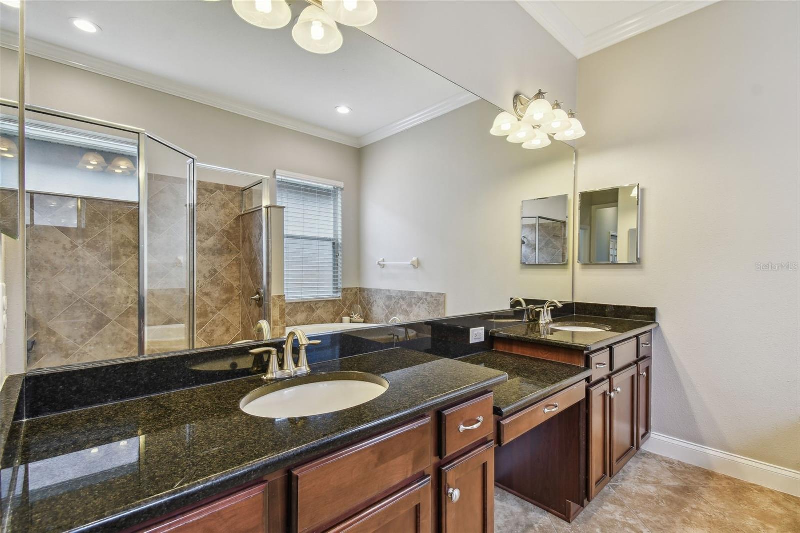
{"type": "MultiPolygon", "coordinates": [[[[273,302],[276,298],[273,297],[273,302]]],[[[445,315],[445,294],[442,292],[351,287],[342,289],[342,299],[290,303],[284,299],[284,302],[286,326],[341,323],[342,317],[350,316],[356,304],[362,308],[364,322],[372,324],[388,323],[394,317],[402,322],[412,322],[445,315]]]]}

